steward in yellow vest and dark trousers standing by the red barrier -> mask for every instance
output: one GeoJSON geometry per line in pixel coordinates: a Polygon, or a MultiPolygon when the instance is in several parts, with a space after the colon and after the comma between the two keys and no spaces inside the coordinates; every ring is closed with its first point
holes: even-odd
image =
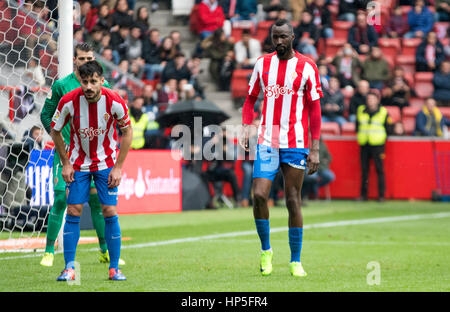
{"type": "Polygon", "coordinates": [[[367,200],[369,181],[369,161],[373,158],[378,176],[378,201],[384,201],[385,182],[383,160],[391,120],[385,107],[380,107],[378,94],[370,92],[366,105],[358,107],[356,112],[356,133],[361,147],[361,197],[367,200]]]}

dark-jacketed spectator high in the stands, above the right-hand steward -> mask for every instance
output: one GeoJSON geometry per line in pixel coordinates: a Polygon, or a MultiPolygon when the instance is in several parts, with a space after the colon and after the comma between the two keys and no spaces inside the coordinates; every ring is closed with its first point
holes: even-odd
{"type": "Polygon", "coordinates": [[[371,47],[378,45],[378,34],[372,25],[367,24],[364,12],[356,15],[356,23],[348,32],[348,42],[359,54],[368,54],[371,47]]]}

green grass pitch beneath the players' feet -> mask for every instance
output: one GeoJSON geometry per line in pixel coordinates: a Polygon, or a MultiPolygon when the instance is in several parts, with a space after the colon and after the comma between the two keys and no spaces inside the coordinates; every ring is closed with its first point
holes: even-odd
{"type": "Polygon", "coordinates": [[[41,253],[0,253],[0,291],[450,291],[448,203],[310,202],[303,208],[302,263],[308,276],[300,279],[289,275],[287,210],[274,207],[270,213],[269,277],[259,273],[252,209],[237,208],[120,216],[122,236],[131,238],[122,243],[126,282],[107,280],[95,244],[78,247],[80,285],[56,282],[62,254],[44,268],[41,253]],[[373,261],[379,264],[378,285],[368,284],[373,261]]]}

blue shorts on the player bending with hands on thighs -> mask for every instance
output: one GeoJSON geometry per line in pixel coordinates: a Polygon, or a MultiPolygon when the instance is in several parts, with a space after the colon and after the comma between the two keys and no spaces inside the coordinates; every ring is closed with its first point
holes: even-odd
{"type": "Polygon", "coordinates": [[[117,186],[108,187],[108,176],[112,167],[93,172],[75,171],[73,182],[69,184],[69,196],[67,204],[84,204],[89,200],[91,179],[94,179],[100,203],[108,206],[117,206],[117,186]]]}

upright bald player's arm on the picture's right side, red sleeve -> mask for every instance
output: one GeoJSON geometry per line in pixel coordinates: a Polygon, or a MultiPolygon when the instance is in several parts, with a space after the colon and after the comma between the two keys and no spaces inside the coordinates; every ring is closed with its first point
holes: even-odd
{"type": "Polygon", "coordinates": [[[311,131],[311,148],[307,159],[308,174],[313,174],[319,169],[319,140],[322,114],[320,98],[323,97],[320,86],[319,70],[315,64],[310,64],[312,70],[306,83],[306,97],[309,102],[309,129],[311,131]]]}

